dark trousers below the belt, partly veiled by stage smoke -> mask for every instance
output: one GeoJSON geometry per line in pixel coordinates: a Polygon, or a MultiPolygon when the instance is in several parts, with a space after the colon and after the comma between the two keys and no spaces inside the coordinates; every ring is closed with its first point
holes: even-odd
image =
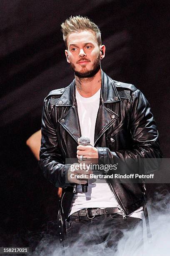
{"type": "Polygon", "coordinates": [[[70,216],[66,255],[143,255],[143,220],[122,215],[70,216]]]}

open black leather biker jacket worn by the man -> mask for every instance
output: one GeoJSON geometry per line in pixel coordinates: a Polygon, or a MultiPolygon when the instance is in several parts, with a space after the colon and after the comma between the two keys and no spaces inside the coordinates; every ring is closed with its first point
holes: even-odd
{"type": "MultiPolygon", "coordinates": [[[[60,214],[64,218],[74,195],[74,184],[65,184],[70,167],[65,159],[76,159],[80,136],[73,80],[69,86],[50,92],[42,112],[39,164],[44,176],[56,187],[63,188],[60,214]]],[[[134,85],[116,82],[104,72],[94,141],[99,160],[162,157],[158,131],[145,96],[134,85]]],[[[137,210],[146,200],[141,184],[117,184],[114,180],[108,184],[125,215],[137,210]]]]}

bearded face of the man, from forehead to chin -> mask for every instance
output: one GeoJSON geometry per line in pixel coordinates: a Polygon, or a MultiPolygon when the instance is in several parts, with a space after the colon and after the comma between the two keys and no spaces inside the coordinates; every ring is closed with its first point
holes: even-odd
{"type": "Polygon", "coordinates": [[[65,55],[75,76],[93,77],[100,70],[100,46],[94,31],[70,33],[67,37],[65,55]]]}

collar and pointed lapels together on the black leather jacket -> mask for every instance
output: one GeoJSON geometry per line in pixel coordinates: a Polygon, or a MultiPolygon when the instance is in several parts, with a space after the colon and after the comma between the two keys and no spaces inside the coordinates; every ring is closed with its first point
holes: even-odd
{"type": "MultiPolygon", "coordinates": [[[[99,138],[105,133],[118,118],[110,108],[105,106],[106,103],[116,103],[120,101],[114,82],[102,71],[102,87],[100,92],[100,106],[97,112],[94,146],[97,145],[99,138]]],[[[81,137],[80,122],[77,111],[77,102],[75,98],[75,79],[66,88],[60,97],[56,107],[71,106],[71,108],[58,120],[70,136],[77,142],[81,137]],[[60,104],[60,105],[59,105],[60,104]]],[[[77,142],[78,145],[78,142],[77,142]]]]}

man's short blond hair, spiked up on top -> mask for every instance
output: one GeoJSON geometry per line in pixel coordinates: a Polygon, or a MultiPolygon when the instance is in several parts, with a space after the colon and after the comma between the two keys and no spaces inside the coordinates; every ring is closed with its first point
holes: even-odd
{"type": "Polygon", "coordinates": [[[65,42],[66,47],[67,47],[68,34],[73,33],[75,31],[80,32],[83,30],[94,31],[96,34],[98,45],[100,46],[102,44],[100,29],[97,27],[97,25],[94,22],[92,22],[87,17],[82,17],[80,15],[73,16],[73,17],[71,16],[61,24],[61,28],[62,28],[61,31],[63,35],[63,40],[65,42]]]}

